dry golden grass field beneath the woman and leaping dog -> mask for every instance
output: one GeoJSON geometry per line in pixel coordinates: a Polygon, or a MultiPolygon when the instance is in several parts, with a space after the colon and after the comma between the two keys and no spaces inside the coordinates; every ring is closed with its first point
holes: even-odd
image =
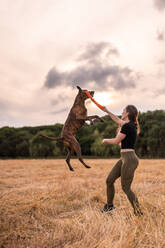
{"type": "Polygon", "coordinates": [[[116,159],[0,160],[0,248],[164,248],[165,160],[140,160],[132,189],[135,217],[115,183],[113,214],[102,214],[116,159]]]}

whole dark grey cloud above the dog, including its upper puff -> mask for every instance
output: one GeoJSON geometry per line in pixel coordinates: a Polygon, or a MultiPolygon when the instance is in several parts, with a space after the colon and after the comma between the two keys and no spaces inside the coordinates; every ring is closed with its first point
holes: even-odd
{"type": "Polygon", "coordinates": [[[115,90],[136,87],[137,74],[128,67],[115,65],[113,56],[119,51],[110,43],[91,43],[77,58],[77,66],[70,71],[60,71],[56,67],[50,69],[44,83],[45,88],[57,86],[92,87],[97,90],[113,88],[115,90]]]}

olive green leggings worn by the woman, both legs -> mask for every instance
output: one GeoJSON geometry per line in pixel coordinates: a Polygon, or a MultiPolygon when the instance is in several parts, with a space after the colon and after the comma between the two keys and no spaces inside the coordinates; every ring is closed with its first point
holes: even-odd
{"type": "Polygon", "coordinates": [[[113,205],[115,195],[114,182],[117,178],[121,177],[121,186],[124,193],[127,195],[134,211],[140,210],[139,202],[131,190],[131,183],[133,181],[134,172],[138,166],[139,160],[134,151],[121,152],[121,159],[115,164],[109,173],[107,183],[107,204],[113,205]]]}

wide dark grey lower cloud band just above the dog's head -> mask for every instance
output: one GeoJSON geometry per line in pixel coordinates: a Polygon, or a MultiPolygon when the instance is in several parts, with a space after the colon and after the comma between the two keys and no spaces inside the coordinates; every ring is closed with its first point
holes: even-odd
{"type": "Polygon", "coordinates": [[[81,87],[88,87],[89,82],[95,83],[95,88],[99,90],[113,87],[116,90],[124,88],[135,87],[135,78],[131,74],[128,67],[120,66],[103,66],[89,65],[80,66],[70,72],[58,72],[58,81],[56,80],[57,70],[56,68],[51,69],[48,74],[51,74],[51,80],[45,82],[47,88],[55,88],[59,85],[71,85],[76,86],[79,84],[81,87]],[[53,78],[54,75],[54,78],[53,78]]]}

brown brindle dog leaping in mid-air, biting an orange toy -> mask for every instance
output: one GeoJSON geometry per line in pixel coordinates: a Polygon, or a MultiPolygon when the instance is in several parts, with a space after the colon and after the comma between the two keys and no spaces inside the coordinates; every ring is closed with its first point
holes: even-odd
{"type": "MultiPolygon", "coordinates": [[[[40,134],[40,136],[45,137],[47,139],[61,140],[64,143],[65,147],[68,150],[66,162],[71,171],[74,171],[74,169],[72,168],[70,164],[70,158],[74,152],[76,152],[80,162],[86,168],[90,168],[90,166],[86,165],[82,159],[81,147],[75,138],[75,133],[77,132],[77,130],[84,125],[85,121],[90,121],[90,123],[93,124],[93,119],[99,119],[100,121],[104,122],[104,120],[100,118],[98,115],[87,116],[85,100],[88,99],[89,97],[85,93],[86,90],[82,90],[79,86],[77,86],[77,88],[79,92],[69,112],[68,118],[63,126],[63,129],[61,132],[61,138],[53,138],[53,137],[48,137],[43,134],[40,134]]],[[[93,97],[94,91],[89,91],[89,93],[93,97]]]]}

